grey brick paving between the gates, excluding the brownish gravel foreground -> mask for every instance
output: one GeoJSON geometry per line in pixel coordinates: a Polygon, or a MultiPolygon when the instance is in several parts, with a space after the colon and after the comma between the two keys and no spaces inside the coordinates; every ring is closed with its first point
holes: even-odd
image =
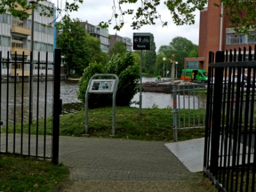
{"type": "Polygon", "coordinates": [[[59,161],[74,181],[198,180],[161,141],[61,136],[59,161]]]}

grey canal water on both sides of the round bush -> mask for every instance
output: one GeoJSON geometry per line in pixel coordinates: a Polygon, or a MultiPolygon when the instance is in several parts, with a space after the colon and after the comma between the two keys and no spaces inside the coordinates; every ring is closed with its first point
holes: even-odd
{"type": "MultiPolygon", "coordinates": [[[[148,81],[156,81],[156,78],[151,77],[143,77],[142,82],[148,81]]],[[[47,81],[47,94],[45,95],[45,82],[39,82],[39,86],[37,83],[33,83],[33,118],[43,117],[45,115],[44,111],[46,109],[46,115],[49,116],[52,114],[52,89],[53,82],[47,81]],[[39,95],[36,94],[36,91],[39,91],[39,95]],[[45,102],[45,96],[47,97],[45,102]],[[38,98],[38,99],[37,99],[38,98]],[[37,110],[36,106],[39,106],[39,110],[37,110]],[[46,108],[45,108],[46,106],[46,108]]],[[[8,109],[6,106],[6,98],[7,98],[7,85],[6,83],[2,83],[2,95],[1,95],[1,120],[6,122],[6,118],[8,122],[13,122],[13,115],[6,116],[6,112],[13,114],[14,111],[14,83],[9,84],[9,105],[8,109]]],[[[16,120],[21,119],[21,111],[22,111],[22,84],[17,84],[17,96],[16,96],[16,120]]],[[[84,105],[81,103],[79,99],[77,99],[78,92],[78,81],[61,81],[61,99],[62,99],[62,114],[65,113],[74,113],[76,111],[80,111],[84,108],[84,105]]],[[[140,93],[136,93],[132,99],[132,107],[139,108],[139,100],[140,93]]],[[[186,98],[185,98],[186,100],[186,98]]],[[[24,83],[24,100],[23,100],[23,118],[28,119],[28,111],[29,111],[29,83],[24,83]]],[[[142,108],[152,108],[157,107],[160,109],[168,108],[172,106],[172,95],[170,93],[155,93],[155,92],[142,92],[142,108]]]]}

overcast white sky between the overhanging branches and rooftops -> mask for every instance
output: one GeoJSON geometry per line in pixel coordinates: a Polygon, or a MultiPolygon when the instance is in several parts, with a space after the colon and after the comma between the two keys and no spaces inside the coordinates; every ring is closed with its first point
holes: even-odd
{"type": "MultiPolygon", "coordinates": [[[[52,3],[55,3],[52,0],[52,3]]],[[[59,1],[60,2],[60,1],[59,1]]],[[[56,3],[55,3],[56,4],[56,3]]],[[[152,33],[154,35],[154,41],[156,43],[156,51],[158,51],[161,45],[168,45],[172,42],[172,39],[176,36],[182,36],[191,40],[194,44],[198,45],[199,36],[199,12],[196,12],[196,21],[191,26],[176,26],[172,22],[170,11],[164,6],[163,1],[158,9],[161,13],[161,18],[164,21],[168,21],[168,26],[162,27],[161,22],[157,20],[154,26],[143,26],[139,31],[132,30],[131,18],[124,17],[125,26],[120,31],[113,29],[113,26],[109,27],[109,34],[115,33],[120,36],[127,36],[132,38],[133,33],[152,33]]],[[[98,25],[101,21],[108,21],[111,19],[113,13],[113,0],[84,0],[83,5],[80,6],[78,12],[71,12],[69,15],[82,21],[88,21],[93,25],[98,25]]],[[[115,21],[113,20],[113,23],[115,21]]]]}

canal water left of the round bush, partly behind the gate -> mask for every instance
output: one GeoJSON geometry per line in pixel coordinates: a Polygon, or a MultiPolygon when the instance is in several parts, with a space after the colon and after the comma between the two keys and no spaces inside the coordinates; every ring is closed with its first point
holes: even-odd
{"type": "MultiPolygon", "coordinates": [[[[29,118],[29,83],[1,84],[1,114],[0,118],[6,125],[14,121],[25,121],[29,118]],[[22,93],[22,86],[24,92],[22,93]],[[8,92],[7,92],[8,90],[8,92]],[[16,90],[16,96],[15,96],[16,90]],[[8,97],[7,97],[8,95],[8,97]],[[22,96],[23,95],[23,96],[22,96]],[[8,104],[8,106],[7,106],[8,104]],[[14,113],[16,111],[16,113],[14,113]],[[8,114],[8,115],[6,115],[8,114]]],[[[77,99],[77,81],[61,81],[62,113],[74,113],[81,109],[81,102],[77,99]]],[[[53,82],[33,83],[33,118],[41,118],[52,114],[53,82]],[[46,87],[46,88],[45,88],[46,87]],[[46,92],[45,92],[46,91],[46,92]],[[46,93],[46,94],[45,94],[46,93]],[[45,99],[46,98],[46,99],[45,99]]]]}

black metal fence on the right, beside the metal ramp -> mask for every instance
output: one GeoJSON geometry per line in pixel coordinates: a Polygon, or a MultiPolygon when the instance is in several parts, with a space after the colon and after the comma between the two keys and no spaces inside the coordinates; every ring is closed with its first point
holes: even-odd
{"type": "Polygon", "coordinates": [[[255,191],[255,60],[252,47],[209,54],[204,173],[220,191],[255,191]]]}

